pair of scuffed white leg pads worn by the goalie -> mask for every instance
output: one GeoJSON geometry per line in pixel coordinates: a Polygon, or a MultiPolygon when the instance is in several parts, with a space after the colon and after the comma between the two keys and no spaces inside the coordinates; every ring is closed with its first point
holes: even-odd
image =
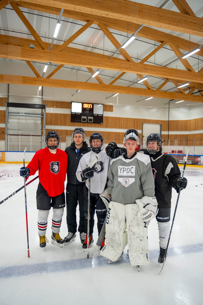
{"type": "Polygon", "coordinates": [[[132,266],[149,265],[147,221],[139,220],[139,206],[111,201],[106,218],[106,245],[100,254],[115,262],[128,243],[132,266]]]}

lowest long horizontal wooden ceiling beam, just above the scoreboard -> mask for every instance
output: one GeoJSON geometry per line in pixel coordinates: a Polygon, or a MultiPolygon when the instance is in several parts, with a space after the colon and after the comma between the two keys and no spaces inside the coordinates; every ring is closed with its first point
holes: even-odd
{"type": "Polygon", "coordinates": [[[116,85],[105,85],[86,83],[81,81],[66,81],[59,79],[46,79],[39,77],[26,77],[19,75],[6,75],[0,74],[0,83],[3,84],[18,84],[18,85],[30,85],[30,86],[43,86],[43,87],[54,87],[54,88],[68,88],[68,89],[80,89],[88,91],[98,92],[116,92],[121,94],[140,95],[140,96],[153,96],[163,99],[183,99],[192,102],[203,103],[202,96],[187,95],[179,92],[167,92],[167,91],[156,91],[143,88],[132,88],[123,87],[116,85]]]}

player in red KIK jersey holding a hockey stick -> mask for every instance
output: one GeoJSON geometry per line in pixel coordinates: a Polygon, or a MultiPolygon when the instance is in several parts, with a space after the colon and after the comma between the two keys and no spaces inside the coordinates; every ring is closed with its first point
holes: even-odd
{"type": "Polygon", "coordinates": [[[44,248],[48,239],[46,229],[48,214],[53,207],[52,216],[52,244],[62,247],[63,239],[59,236],[63,210],[66,205],[64,182],[66,180],[67,155],[57,148],[59,135],[56,131],[48,131],[46,135],[47,147],[38,150],[27,167],[20,168],[20,176],[28,178],[39,170],[39,185],[37,188],[38,235],[40,247],[44,248]]]}

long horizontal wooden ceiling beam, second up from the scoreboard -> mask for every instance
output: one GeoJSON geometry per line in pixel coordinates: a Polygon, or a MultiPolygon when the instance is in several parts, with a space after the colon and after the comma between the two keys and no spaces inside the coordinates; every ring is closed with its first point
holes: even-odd
{"type": "Polygon", "coordinates": [[[131,63],[123,59],[112,58],[106,59],[101,54],[82,56],[83,51],[75,52],[54,52],[40,49],[21,48],[13,45],[0,45],[0,57],[18,60],[34,60],[38,62],[48,62],[50,56],[52,62],[56,64],[90,67],[96,69],[113,70],[125,73],[136,73],[157,76],[162,78],[172,78],[183,81],[194,81],[203,83],[203,74],[193,71],[177,70],[167,67],[159,67],[141,63],[131,63]]]}

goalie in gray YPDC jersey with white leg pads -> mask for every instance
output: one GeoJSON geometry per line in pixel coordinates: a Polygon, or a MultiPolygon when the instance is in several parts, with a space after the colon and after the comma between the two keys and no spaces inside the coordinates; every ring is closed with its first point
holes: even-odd
{"type": "Polygon", "coordinates": [[[108,172],[108,193],[112,196],[106,219],[106,245],[101,255],[108,263],[122,258],[128,243],[132,266],[139,271],[149,265],[147,221],[156,216],[154,178],[150,158],[136,152],[139,134],[128,129],[123,140],[126,153],[113,159],[108,172]]]}

